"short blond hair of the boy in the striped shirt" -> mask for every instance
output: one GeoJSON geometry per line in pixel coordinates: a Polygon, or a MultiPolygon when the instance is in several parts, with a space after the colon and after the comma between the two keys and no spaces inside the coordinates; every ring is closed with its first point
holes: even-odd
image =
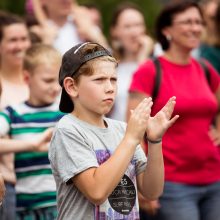
{"type": "Polygon", "coordinates": [[[34,44],[24,57],[24,70],[33,73],[39,65],[52,65],[61,63],[61,54],[52,46],[34,44]]]}

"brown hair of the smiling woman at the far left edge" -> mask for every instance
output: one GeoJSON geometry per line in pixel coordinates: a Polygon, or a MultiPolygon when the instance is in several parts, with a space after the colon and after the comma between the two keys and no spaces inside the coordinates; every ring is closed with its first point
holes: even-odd
{"type": "Polygon", "coordinates": [[[26,26],[25,21],[18,15],[0,11],[0,42],[3,39],[4,28],[12,24],[24,24],[26,26]]]}

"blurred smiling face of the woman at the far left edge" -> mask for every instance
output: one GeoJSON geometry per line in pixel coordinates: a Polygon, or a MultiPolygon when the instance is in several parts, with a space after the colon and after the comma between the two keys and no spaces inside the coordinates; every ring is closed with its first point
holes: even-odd
{"type": "Polygon", "coordinates": [[[0,42],[2,63],[22,65],[25,51],[29,47],[29,34],[24,24],[12,24],[3,28],[3,38],[0,42]]]}

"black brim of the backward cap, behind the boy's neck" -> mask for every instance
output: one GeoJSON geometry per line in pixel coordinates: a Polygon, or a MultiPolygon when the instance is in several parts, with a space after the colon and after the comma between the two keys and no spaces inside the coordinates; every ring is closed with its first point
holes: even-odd
{"type": "Polygon", "coordinates": [[[64,113],[70,113],[74,109],[73,102],[64,88],[62,89],[59,108],[64,113]]]}

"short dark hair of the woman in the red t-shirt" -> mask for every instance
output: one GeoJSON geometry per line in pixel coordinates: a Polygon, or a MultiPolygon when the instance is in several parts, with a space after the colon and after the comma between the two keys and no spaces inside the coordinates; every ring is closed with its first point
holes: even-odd
{"type": "Polygon", "coordinates": [[[155,31],[156,31],[156,38],[158,42],[161,44],[163,50],[166,51],[170,47],[169,41],[167,40],[166,36],[164,36],[163,34],[164,28],[172,26],[173,18],[175,15],[184,12],[192,7],[197,8],[201,17],[203,18],[201,8],[199,4],[194,0],[174,1],[166,5],[162,9],[156,20],[155,31]]]}

